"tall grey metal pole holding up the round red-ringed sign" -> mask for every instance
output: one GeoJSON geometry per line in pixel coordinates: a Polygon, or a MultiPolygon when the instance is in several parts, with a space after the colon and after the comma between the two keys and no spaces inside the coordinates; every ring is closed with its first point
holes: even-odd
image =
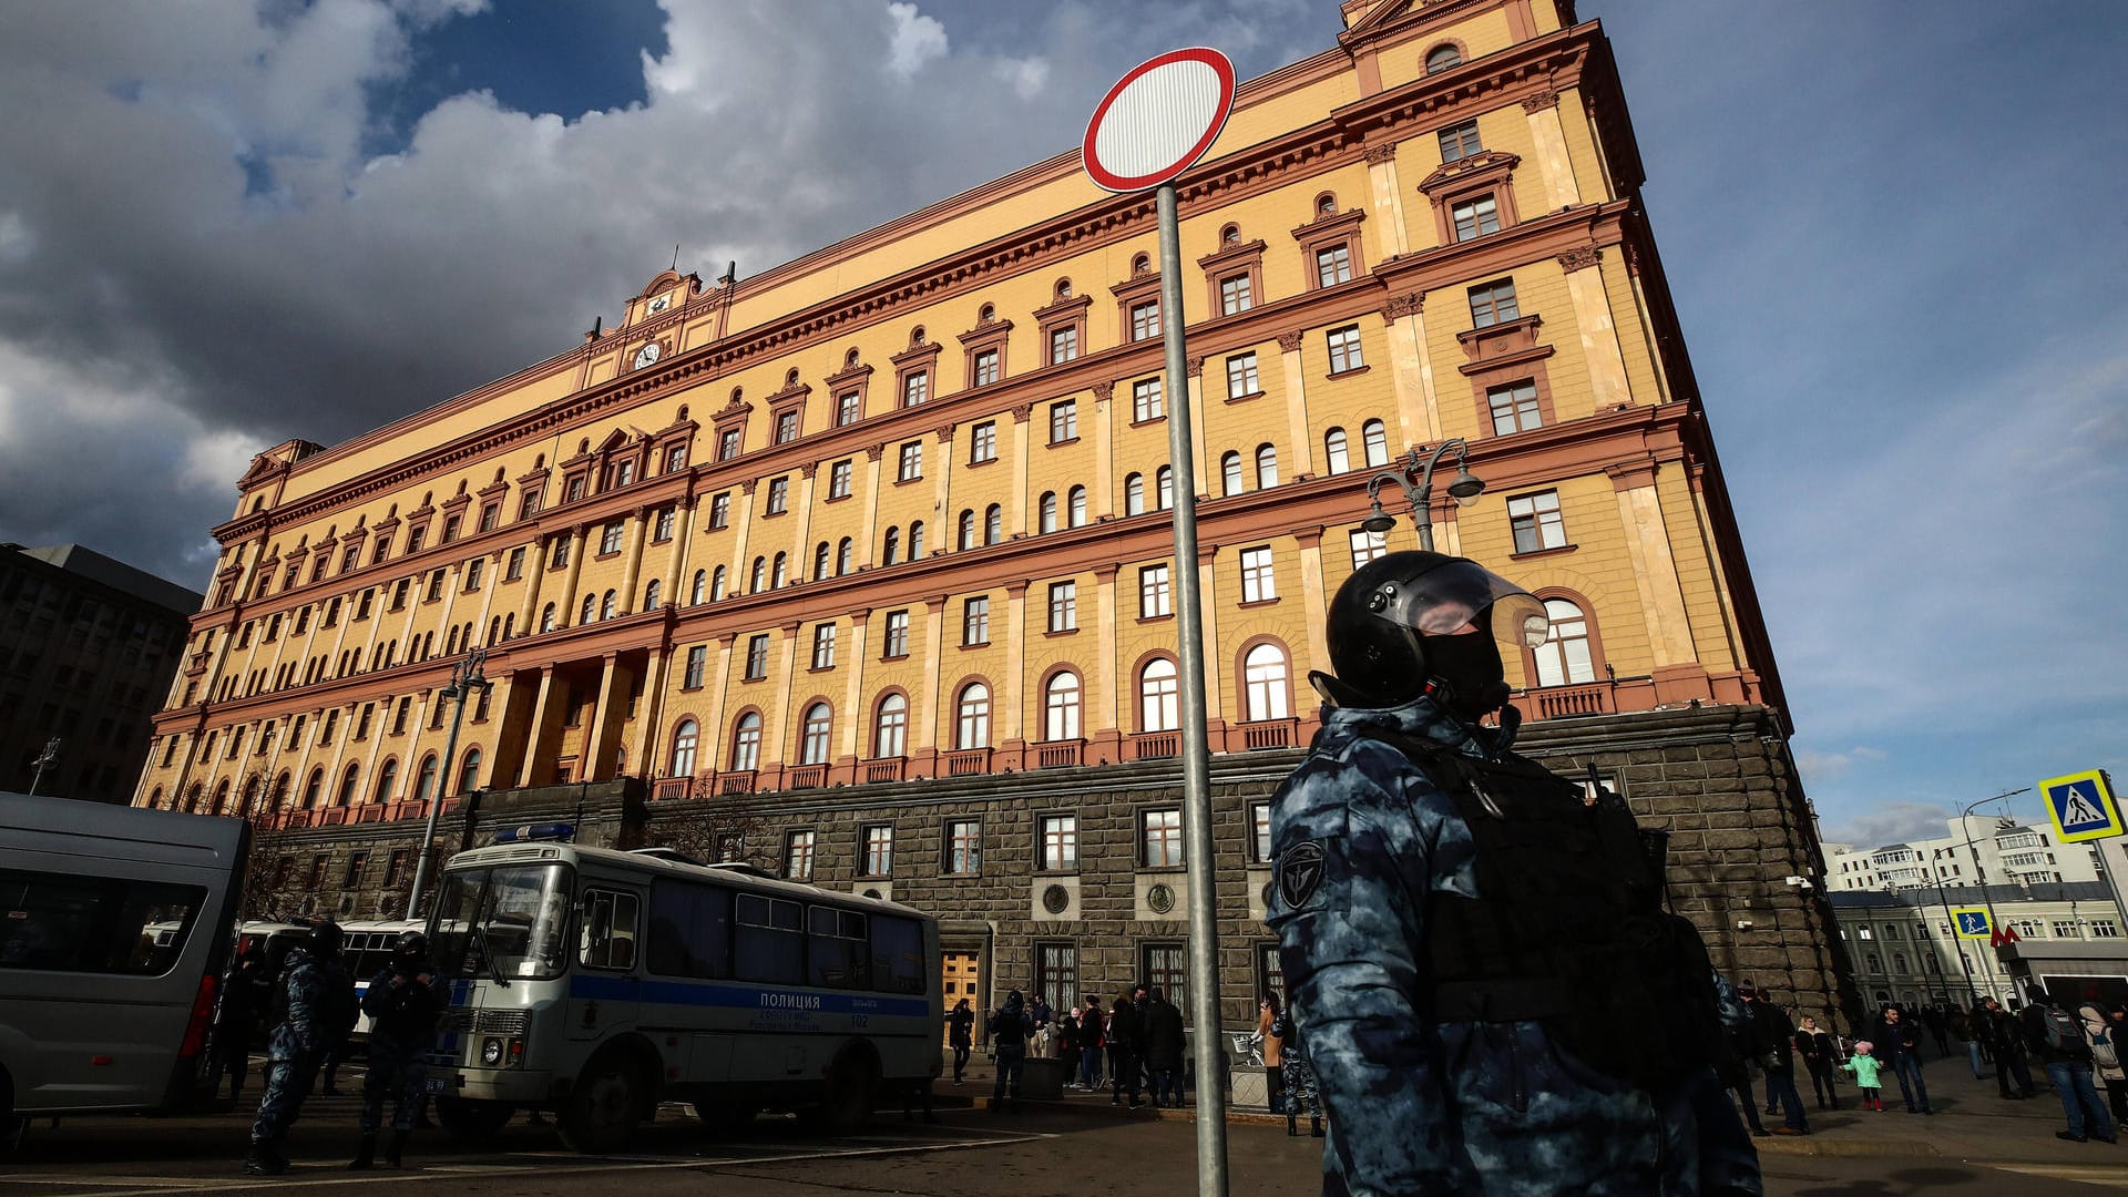
{"type": "Polygon", "coordinates": [[[1226,1197],[1226,1061],[1219,1024],[1219,920],[1213,892],[1211,745],[1204,731],[1204,609],[1198,594],[1196,469],[1190,430],[1190,358],[1183,347],[1183,251],[1175,183],[1162,183],[1160,332],[1168,464],[1175,471],[1175,620],[1183,699],[1183,852],[1190,863],[1190,1020],[1196,1024],[1198,1193],[1226,1197]]]}

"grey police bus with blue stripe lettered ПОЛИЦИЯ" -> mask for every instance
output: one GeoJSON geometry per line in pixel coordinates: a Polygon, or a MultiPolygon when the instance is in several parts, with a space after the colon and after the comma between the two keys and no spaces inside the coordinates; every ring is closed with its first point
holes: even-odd
{"type": "Polygon", "coordinates": [[[606,1152],[664,1099],[704,1122],[798,1110],[841,1131],[941,1071],[938,920],[747,865],[460,852],[430,948],[451,1001],[428,1086],[460,1137],[551,1110],[564,1144],[606,1152]]]}

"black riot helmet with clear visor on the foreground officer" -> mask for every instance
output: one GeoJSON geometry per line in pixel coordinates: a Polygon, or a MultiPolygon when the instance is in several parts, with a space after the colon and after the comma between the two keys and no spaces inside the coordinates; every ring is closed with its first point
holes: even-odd
{"type": "Polygon", "coordinates": [[[1328,699],[1358,707],[1396,707],[1441,682],[1451,709],[1477,718],[1507,701],[1494,637],[1534,647],[1547,628],[1543,603],[1475,560],[1387,554],[1339,586],[1326,628],[1336,677],[1315,679],[1328,699]],[[1490,635],[1464,641],[1456,633],[1466,626],[1490,635]]]}

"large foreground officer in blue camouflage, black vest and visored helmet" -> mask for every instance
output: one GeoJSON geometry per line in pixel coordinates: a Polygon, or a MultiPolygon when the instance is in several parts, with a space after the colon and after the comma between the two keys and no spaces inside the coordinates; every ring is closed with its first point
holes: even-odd
{"type": "Polygon", "coordinates": [[[1324,728],[1273,807],[1268,912],[1330,1116],[1326,1197],[1762,1193],[1660,839],[1509,748],[1494,637],[1545,630],[1528,592],[1432,552],[1364,564],[1330,605],[1336,675],[1309,677],[1324,728]]]}

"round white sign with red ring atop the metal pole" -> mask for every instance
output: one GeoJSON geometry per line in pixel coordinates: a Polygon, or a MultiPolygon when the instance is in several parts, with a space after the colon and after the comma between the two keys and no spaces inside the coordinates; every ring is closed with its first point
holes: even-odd
{"type": "Polygon", "coordinates": [[[1234,64],[1211,47],[1130,68],[1085,126],[1085,173],[1107,192],[1158,187],[1204,155],[1234,111],[1234,64]]]}

